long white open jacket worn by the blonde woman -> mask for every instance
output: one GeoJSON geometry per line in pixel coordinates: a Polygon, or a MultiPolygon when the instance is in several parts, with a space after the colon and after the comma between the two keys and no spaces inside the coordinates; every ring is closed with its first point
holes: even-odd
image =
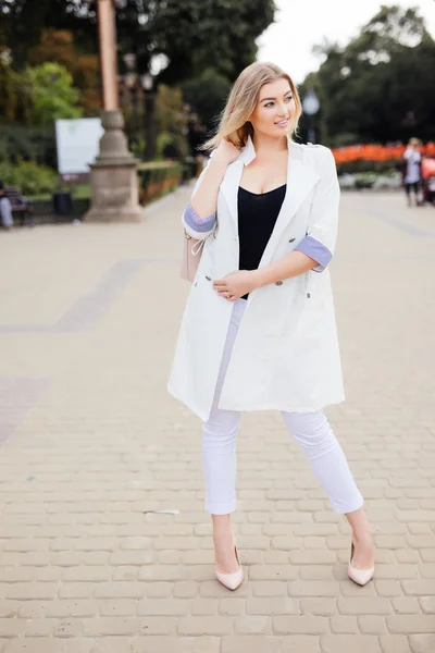
{"type": "MultiPolygon", "coordinates": [[[[198,417],[210,415],[233,304],[213,281],[238,270],[237,194],[252,141],[228,165],[217,199],[214,232],[206,238],[183,316],[169,381],[170,393],[198,417]]],[[[201,183],[201,174],[197,184],[201,183]]],[[[339,186],[332,152],[288,139],[287,190],[260,268],[281,259],[310,235],[334,252],[339,186]]],[[[344,401],[341,366],[328,270],[310,270],[250,293],[219,407],[311,412],[344,401]]]]}

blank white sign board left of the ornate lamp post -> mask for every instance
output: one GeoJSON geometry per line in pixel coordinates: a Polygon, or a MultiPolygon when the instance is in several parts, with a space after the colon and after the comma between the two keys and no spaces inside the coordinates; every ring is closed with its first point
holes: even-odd
{"type": "Polygon", "coordinates": [[[89,163],[94,163],[99,152],[99,143],[103,133],[99,118],[57,120],[59,173],[63,175],[88,173],[89,163]]]}

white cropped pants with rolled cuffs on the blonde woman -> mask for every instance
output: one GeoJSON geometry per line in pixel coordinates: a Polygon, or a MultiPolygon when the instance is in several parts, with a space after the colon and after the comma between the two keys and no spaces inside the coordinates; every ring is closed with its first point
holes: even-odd
{"type": "MultiPolygon", "coordinates": [[[[227,515],[236,509],[236,439],[240,412],[221,410],[217,403],[245,308],[245,299],[234,303],[212,411],[202,430],[206,510],[211,515],[227,515]]],[[[345,514],[358,510],[363,504],[362,495],[323,411],[282,412],[282,416],[307,454],[334,512],[345,514]]]]}

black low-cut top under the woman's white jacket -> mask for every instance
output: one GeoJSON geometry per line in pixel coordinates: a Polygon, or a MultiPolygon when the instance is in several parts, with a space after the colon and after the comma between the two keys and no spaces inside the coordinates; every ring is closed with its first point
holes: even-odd
{"type": "MultiPolygon", "coordinates": [[[[257,270],[272,235],[284,197],[286,184],[262,193],[238,189],[239,270],[257,270]]],[[[245,295],[243,299],[247,299],[245,295]]]]}

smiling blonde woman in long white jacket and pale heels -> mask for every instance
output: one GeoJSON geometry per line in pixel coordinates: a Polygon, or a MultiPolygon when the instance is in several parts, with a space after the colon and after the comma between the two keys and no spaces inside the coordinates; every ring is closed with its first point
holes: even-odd
{"type": "Polygon", "coordinates": [[[290,139],[301,113],[290,77],[270,63],[236,81],[215,148],[183,223],[204,241],[181,325],[170,392],[204,422],[206,510],[217,579],[243,581],[231,527],[243,410],[281,410],[333,509],[352,529],[349,576],[373,577],[371,529],[322,408],[344,399],[326,270],[339,188],[330,150],[290,139]]]}

